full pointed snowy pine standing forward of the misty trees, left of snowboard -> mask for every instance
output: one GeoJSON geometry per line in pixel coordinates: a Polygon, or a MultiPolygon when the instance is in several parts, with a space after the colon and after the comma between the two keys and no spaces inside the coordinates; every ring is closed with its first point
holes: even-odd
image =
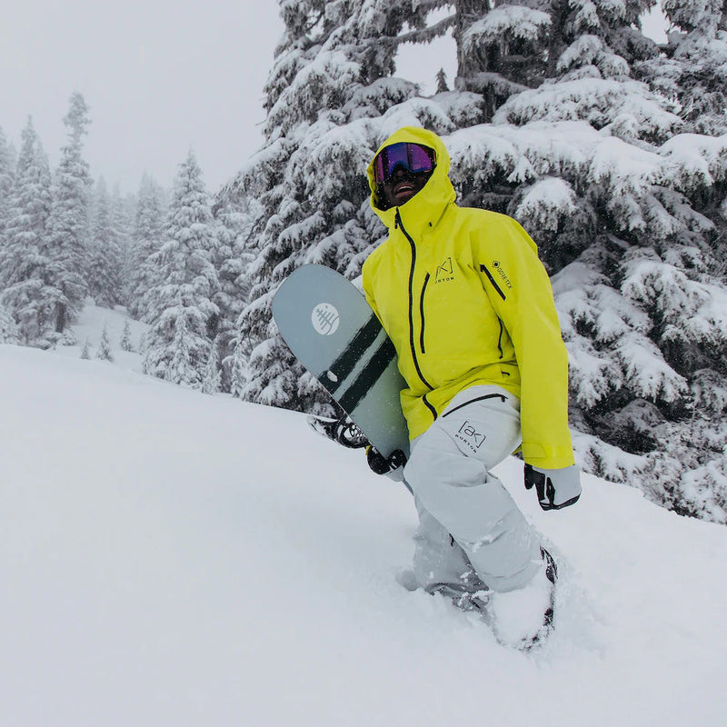
{"type": "Polygon", "coordinates": [[[164,245],[150,295],[152,327],[146,337],[144,373],[198,389],[217,334],[218,289],[212,264],[215,224],[202,171],[190,151],[174,179],[164,245]]]}

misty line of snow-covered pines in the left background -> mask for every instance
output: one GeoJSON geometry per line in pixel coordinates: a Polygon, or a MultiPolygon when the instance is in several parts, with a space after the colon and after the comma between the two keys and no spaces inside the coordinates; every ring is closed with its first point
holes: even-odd
{"type": "Polygon", "coordinates": [[[235,324],[249,294],[254,204],[213,214],[193,152],[171,197],[147,175],[138,194],[109,194],[83,156],[83,95],[71,96],[64,123],[53,172],[31,119],[16,154],[0,129],[0,342],[75,343],[71,326],[90,296],[151,326],[146,372],[239,393],[247,349],[235,324]]]}

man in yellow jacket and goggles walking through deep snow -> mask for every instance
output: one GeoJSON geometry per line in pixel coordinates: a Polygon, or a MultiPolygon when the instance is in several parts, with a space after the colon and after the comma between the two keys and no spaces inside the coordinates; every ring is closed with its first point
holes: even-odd
{"type": "MultiPolygon", "coordinates": [[[[522,448],[543,509],[578,500],[568,356],[533,240],[506,215],[455,204],[449,165],[442,140],[415,127],[375,154],[371,204],[390,234],[364,264],[364,292],[407,383],[415,585],[482,608],[501,640],[527,645],[553,620],[555,564],[489,470],[522,448]]],[[[369,461],[388,469],[375,451],[369,461]]]]}

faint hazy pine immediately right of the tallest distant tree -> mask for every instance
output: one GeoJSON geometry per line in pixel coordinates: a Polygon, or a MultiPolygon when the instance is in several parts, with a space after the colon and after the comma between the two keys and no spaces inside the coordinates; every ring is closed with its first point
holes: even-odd
{"type": "Polygon", "coordinates": [[[122,299],[123,253],[115,222],[106,183],[101,177],[94,194],[86,278],[88,293],[95,299],[96,305],[105,308],[114,308],[122,299]]]}

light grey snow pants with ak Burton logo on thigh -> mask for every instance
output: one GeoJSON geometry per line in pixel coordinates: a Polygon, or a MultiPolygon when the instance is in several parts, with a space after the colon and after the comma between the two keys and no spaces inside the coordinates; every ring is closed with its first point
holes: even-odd
{"type": "Polygon", "coordinates": [[[499,386],[457,394],[413,440],[404,478],[419,513],[417,585],[458,583],[474,570],[490,589],[505,592],[533,578],[542,562],[539,539],[488,472],[521,441],[520,403],[499,386]]]}

